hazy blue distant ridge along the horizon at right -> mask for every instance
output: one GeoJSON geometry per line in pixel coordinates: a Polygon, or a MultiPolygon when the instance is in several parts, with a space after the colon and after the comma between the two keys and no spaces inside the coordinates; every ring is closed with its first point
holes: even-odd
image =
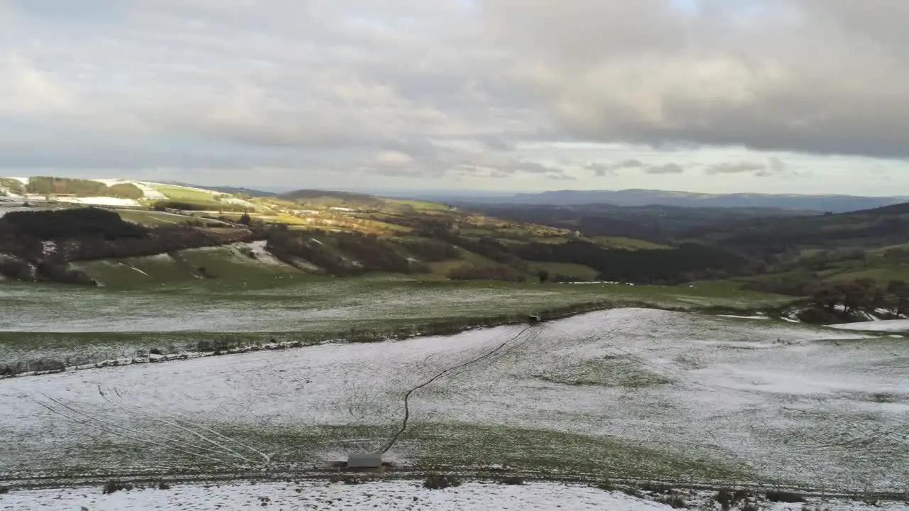
{"type": "Polygon", "coordinates": [[[556,190],[538,194],[502,196],[464,196],[462,204],[514,205],[587,205],[619,206],[674,205],[682,207],[778,208],[804,211],[844,213],[894,205],[909,197],[866,197],[854,195],[772,195],[772,194],[695,194],[661,190],[556,190]]]}

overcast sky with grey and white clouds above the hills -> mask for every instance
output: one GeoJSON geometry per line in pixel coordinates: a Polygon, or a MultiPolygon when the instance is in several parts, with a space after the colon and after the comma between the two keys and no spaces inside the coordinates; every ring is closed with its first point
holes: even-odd
{"type": "Polygon", "coordinates": [[[0,174],[909,195],[906,0],[0,0],[0,174]]]}

